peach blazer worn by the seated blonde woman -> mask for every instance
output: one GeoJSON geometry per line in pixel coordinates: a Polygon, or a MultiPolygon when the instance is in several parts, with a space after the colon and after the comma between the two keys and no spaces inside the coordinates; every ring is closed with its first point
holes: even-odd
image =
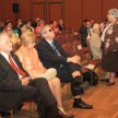
{"type": "Polygon", "coordinates": [[[32,79],[36,78],[36,74],[43,74],[46,72],[45,67],[38,59],[38,54],[35,48],[32,49],[32,54],[28,52],[23,46],[15,52],[24,70],[26,70],[32,79]]]}

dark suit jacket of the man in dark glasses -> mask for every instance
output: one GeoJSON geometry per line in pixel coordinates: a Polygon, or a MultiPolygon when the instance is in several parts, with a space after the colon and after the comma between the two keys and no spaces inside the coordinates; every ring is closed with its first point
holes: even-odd
{"type": "Polygon", "coordinates": [[[43,39],[37,45],[37,52],[46,69],[55,68],[58,71],[60,69],[60,64],[67,63],[67,58],[72,56],[67,54],[57,40],[54,39],[54,44],[62,57],[57,56],[54,48],[49,45],[49,43],[47,43],[46,39],[43,39]]]}

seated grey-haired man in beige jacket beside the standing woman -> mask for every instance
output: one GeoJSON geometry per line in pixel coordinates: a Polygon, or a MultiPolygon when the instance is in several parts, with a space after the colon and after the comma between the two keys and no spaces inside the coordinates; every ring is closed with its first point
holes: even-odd
{"type": "Polygon", "coordinates": [[[93,55],[93,59],[102,59],[102,50],[101,50],[101,31],[99,24],[93,25],[93,34],[90,37],[90,48],[93,55]]]}

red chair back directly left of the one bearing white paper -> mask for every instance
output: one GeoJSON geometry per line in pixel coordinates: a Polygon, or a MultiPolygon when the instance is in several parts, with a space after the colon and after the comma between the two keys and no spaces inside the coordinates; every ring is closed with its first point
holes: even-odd
{"type": "Polygon", "coordinates": [[[66,52],[71,54],[72,56],[74,56],[75,54],[73,52],[73,46],[71,43],[66,43],[62,45],[62,48],[64,49],[66,52]]]}

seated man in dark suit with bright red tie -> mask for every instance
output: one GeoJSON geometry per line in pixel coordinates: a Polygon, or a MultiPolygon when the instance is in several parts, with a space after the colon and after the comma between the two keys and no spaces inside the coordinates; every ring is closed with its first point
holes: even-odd
{"type": "Polygon", "coordinates": [[[16,108],[22,102],[35,101],[40,118],[63,118],[46,79],[31,79],[19,58],[10,54],[12,43],[7,34],[0,34],[0,111],[16,108]],[[49,116],[45,116],[49,109],[49,116]]]}

